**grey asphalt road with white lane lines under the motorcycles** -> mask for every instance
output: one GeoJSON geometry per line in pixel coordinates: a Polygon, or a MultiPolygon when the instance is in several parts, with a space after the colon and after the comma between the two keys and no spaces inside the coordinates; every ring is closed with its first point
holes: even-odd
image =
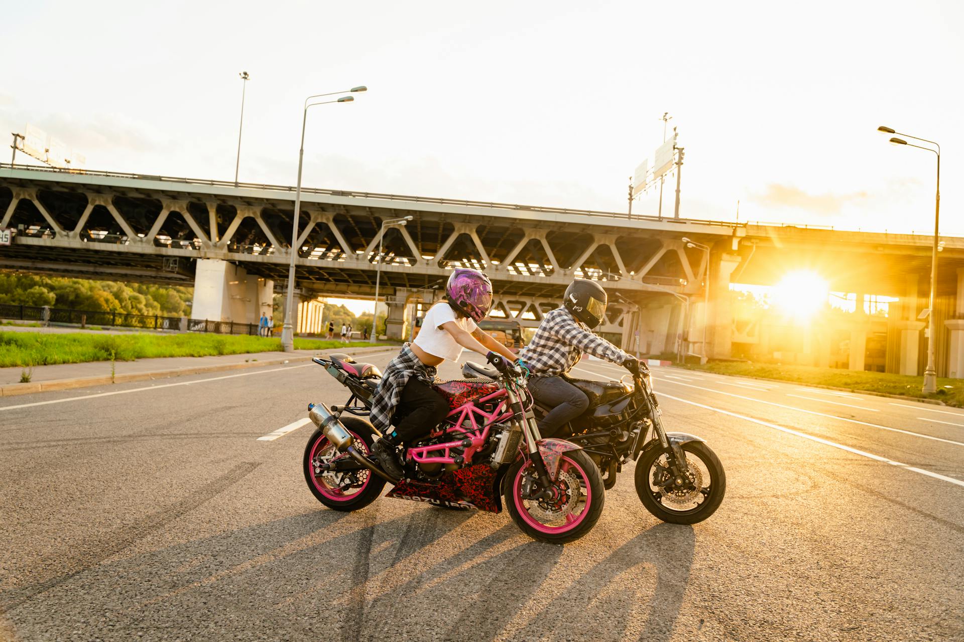
{"type": "Polygon", "coordinates": [[[324,508],[309,427],[258,440],[344,400],[311,364],[2,399],[0,638],[964,639],[964,411],[655,372],[726,499],[661,524],[630,468],[565,547],[505,513],[324,508]]]}

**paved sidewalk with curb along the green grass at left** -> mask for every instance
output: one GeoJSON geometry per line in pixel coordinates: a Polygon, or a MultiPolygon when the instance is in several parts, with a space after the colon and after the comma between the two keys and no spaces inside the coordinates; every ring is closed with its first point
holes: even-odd
{"type": "Polygon", "coordinates": [[[0,397],[29,395],[52,390],[67,390],[85,386],[100,386],[127,381],[144,381],[170,376],[199,374],[201,372],[220,372],[242,370],[263,366],[278,366],[285,362],[304,362],[316,354],[343,352],[362,355],[395,349],[382,347],[344,347],[331,350],[295,350],[294,352],[255,352],[252,354],[222,354],[209,357],[166,357],[160,359],[138,359],[137,361],[117,361],[114,375],[111,375],[110,361],[92,361],[82,364],[61,364],[57,366],[37,366],[34,368],[30,383],[19,383],[23,368],[0,368],[0,397]]]}

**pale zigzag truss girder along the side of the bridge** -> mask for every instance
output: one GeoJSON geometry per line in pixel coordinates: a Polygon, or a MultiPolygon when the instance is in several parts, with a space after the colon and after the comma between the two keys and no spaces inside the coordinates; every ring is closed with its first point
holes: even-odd
{"type": "MultiPolygon", "coordinates": [[[[27,199],[31,201],[40,212],[41,217],[49,225],[52,235],[52,238],[18,236],[16,243],[46,245],[64,250],[82,247],[85,250],[97,249],[107,252],[153,254],[158,256],[175,255],[188,258],[219,258],[239,264],[287,265],[290,260],[290,247],[282,244],[281,240],[273,233],[272,225],[269,224],[266,219],[266,217],[272,216],[266,212],[266,210],[277,209],[269,203],[251,204],[251,201],[244,202],[240,201],[240,199],[237,202],[227,202],[226,204],[234,205],[236,213],[228,224],[224,234],[220,235],[219,238],[216,213],[218,201],[201,201],[201,204],[205,206],[208,214],[208,220],[203,221],[205,225],[202,226],[201,221],[195,218],[189,208],[189,203],[199,202],[197,199],[158,197],[155,198],[155,200],[161,202],[161,210],[154,220],[150,222],[147,233],[141,235],[134,231],[134,226],[130,224],[124,212],[116,203],[116,196],[124,194],[110,193],[109,191],[86,193],[88,203],[83,214],[75,226],[66,230],[57,220],[55,216],[56,213],[51,213],[48,211],[48,208],[45,208],[40,203],[36,189],[13,187],[12,191],[13,199],[2,221],[0,221],[0,227],[9,224],[13,218],[17,203],[22,199],[27,199]],[[118,243],[98,243],[83,238],[85,232],[88,232],[87,236],[91,238],[89,234],[90,230],[88,230],[86,226],[94,207],[98,205],[106,208],[111,217],[116,221],[120,230],[122,230],[123,234],[118,243]],[[155,244],[155,240],[158,235],[161,234],[172,212],[176,212],[184,219],[191,230],[191,234],[194,236],[193,239],[179,240],[181,242],[188,242],[188,247],[165,247],[155,244]],[[231,241],[246,218],[254,218],[257,227],[267,240],[267,244],[260,248],[260,253],[238,252],[232,251],[230,248],[231,241]]],[[[160,196],[160,194],[158,195],[160,196]]],[[[145,196],[142,194],[140,197],[144,198],[145,196]]],[[[226,199],[222,199],[220,202],[225,203],[226,199]]],[[[375,220],[374,216],[368,211],[370,208],[366,208],[365,210],[366,211],[363,214],[360,213],[359,216],[372,218],[370,224],[377,225],[377,220],[375,220]]],[[[549,286],[550,289],[555,290],[567,285],[576,276],[590,278],[595,276],[596,278],[602,278],[604,287],[609,289],[647,291],[651,290],[651,284],[656,282],[660,287],[675,292],[698,293],[702,290],[700,280],[706,271],[705,261],[702,260],[701,264],[694,270],[684,251],[683,243],[680,240],[662,236],[656,237],[659,245],[652,255],[649,257],[632,257],[632,263],[640,264],[641,267],[637,270],[629,271],[627,269],[627,262],[616,246],[617,241],[621,237],[614,234],[597,233],[592,228],[585,226],[574,231],[574,233],[584,234],[588,232],[593,235],[592,242],[572,261],[571,265],[560,265],[557,259],[558,253],[556,248],[552,246],[552,243],[550,243],[547,238],[545,225],[527,219],[520,219],[511,224],[513,228],[522,231],[522,239],[509,251],[501,262],[495,263],[491,259],[491,254],[479,234],[479,229],[484,228],[484,226],[491,221],[486,219],[479,219],[478,221],[458,220],[457,218],[446,217],[443,214],[433,212],[423,212],[420,213],[419,217],[416,217],[419,223],[418,229],[421,229],[420,224],[422,222],[437,224],[440,232],[442,226],[446,223],[452,226],[452,231],[447,237],[443,238],[442,244],[434,256],[423,256],[419,251],[419,247],[422,245],[422,236],[419,235],[418,241],[416,242],[405,227],[397,227],[395,229],[400,233],[402,241],[407,248],[411,250],[414,258],[397,255],[394,250],[388,247],[388,244],[383,255],[376,256],[379,241],[385,233],[385,229],[381,228],[380,225],[379,230],[368,240],[364,249],[358,251],[354,250],[352,245],[348,243],[344,235],[344,230],[340,229],[335,221],[335,214],[349,219],[356,216],[348,208],[308,203],[303,212],[308,215],[308,224],[299,230],[299,238],[296,246],[302,248],[308,241],[308,237],[312,231],[324,226],[332,232],[332,236],[340,246],[343,254],[326,251],[322,252],[319,256],[298,256],[295,261],[296,265],[320,270],[341,270],[342,272],[346,270],[362,270],[367,272],[374,270],[374,264],[379,263],[381,264],[380,269],[383,270],[383,272],[388,275],[397,273],[400,277],[403,277],[406,284],[410,276],[415,276],[415,274],[426,279],[447,277],[449,271],[446,266],[451,263],[473,266],[479,265],[476,259],[470,258],[469,256],[462,254],[453,255],[452,252],[456,246],[456,242],[463,236],[469,237],[471,246],[478,252],[478,257],[481,260],[479,267],[486,270],[494,280],[518,283],[521,286],[527,282],[538,281],[542,284],[543,288],[549,286]],[[529,242],[533,240],[538,241],[538,246],[545,252],[545,260],[540,259],[542,265],[536,265],[532,270],[529,270],[525,265],[522,265],[521,268],[518,265],[514,265],[513,262],[515,259],[521,254],[529,242]],[[615,271],[603,270],[603,266],[600,264],[590,264],[594,252],[603,246],[608,247],[612,254],[615,261],[615,271]],[[654,277],[653,272],[656,266],[659,265],[660,260],[667,253],[675,253],[678,258],[678,273],[672,276],[661,275],[654,277]],[[643,260],[640,260],[641,258],[643,260]],[[542,266],[545,266],[546,270],[543,270],[542,266]],[[551,266],[551,270],[548,270],[549,266],[551,266]]],[[[277,224],[278,221],[276,219],[272,220],[277,224]]],[[[355,232],[361,234],[358,224],[356,224],[354,220],[350,220],[350,223],[355,232]]],[[[413,227],[415,227],[415,225],[413,227]]],[[[562,228],[561,230],[555,229],[553,231],[566,232],[568,230],[562,228]]],[[[430,232],[427,231],[426,233],[430,232]]],[[[650,238],[652,239],[652,237],[650,238]]],[[[440,239],[442,239],[442,237],[440,237],[440,239]]],[[[524,292],[525,289],[525,287],[519,288],[521,292],[524,292]]]]}

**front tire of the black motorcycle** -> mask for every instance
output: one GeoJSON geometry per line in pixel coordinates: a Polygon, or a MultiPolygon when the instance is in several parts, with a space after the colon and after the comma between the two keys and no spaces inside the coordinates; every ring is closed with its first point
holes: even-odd
{"type": "Polygon", "coordinates": [[[696,524],[710,517],[719,508],[723,496],[726,495],[726,472],[723,470],[723,465],[716,453],[703,442],[688,442],[680,448],[683,449],[684,453],[687,453],[687,462],[692,461],[690,456],[698,458],[710,474],[709,494],[706,499],[689,509],[683,509],[682,506],[680,509],[669,508],[660,501],[662,499],[661,494],[656,492],[650,484],[651,471],[656,465],[656,461],[665,454],[660,449],[653,449],[636,462],[636,494],[646,510],[663,522],[696,524]]]}

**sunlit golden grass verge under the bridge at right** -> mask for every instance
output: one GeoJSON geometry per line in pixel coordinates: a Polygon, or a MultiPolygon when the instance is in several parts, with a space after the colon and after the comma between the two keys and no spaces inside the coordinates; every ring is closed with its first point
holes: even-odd
{"type": "Polygon", "coordinates": [[[687,365],[688,370],[702,370],[718,374],[759,376],[764,379],[793,381],[805,385],[832,386],[854,392],[882,393],[902,397],[939,399],[948,405],[964,407],[964,380],[937,379],[937,393],[924,395],[923,376],[890,374],[888,372],[858,372],[836,368],[813,368],[810,366],[782,366],[735,361],[710,361],[704,366],[687,365]]]}

